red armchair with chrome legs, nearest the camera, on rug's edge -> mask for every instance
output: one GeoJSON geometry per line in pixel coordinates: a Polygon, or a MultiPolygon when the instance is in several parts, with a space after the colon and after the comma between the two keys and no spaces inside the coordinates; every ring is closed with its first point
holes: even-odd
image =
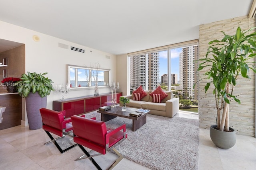
{"type": "MultiPolygon", "coordinates": [[[[103,121],[86,119],[76,115],[71,117],[71,121],[73,125],[74,142],[77,143],[80,149],[84,152],[84,155],[77,158],[76,161],[89,158],[98,170],[102,169],[92,157],[106,154],[108,148],[112,147],[118,141],[127,138],[125,124],[116,129],[110,129],[106,127],[106,124],[103,121]],[[83,146],[95,150],[96,152],[99,152],[99,154],[90,155],[83,146]]],[[[123,158],[116,149],[113,148],[113,150],[119,158],[108,169],[116,166],[116,164],[123,158]]]]}

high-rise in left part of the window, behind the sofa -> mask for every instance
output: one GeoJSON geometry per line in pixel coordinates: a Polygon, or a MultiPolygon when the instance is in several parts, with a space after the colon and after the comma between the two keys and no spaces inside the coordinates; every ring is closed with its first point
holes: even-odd
{"type": "Polygon", "coordinates": [[[142,85],[144,89],[154,90],[159,83],[159,53],[130,57],[131,88],[138,88],[142,85]]]}

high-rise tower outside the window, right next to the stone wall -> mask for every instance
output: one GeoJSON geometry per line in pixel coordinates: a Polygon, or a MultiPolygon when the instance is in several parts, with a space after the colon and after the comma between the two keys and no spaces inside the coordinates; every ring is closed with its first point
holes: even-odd
{"type": "Polygon", "coordinates": [[[198,100],[198,84],[193,89],[198,79],[196,74],[198,64],[194,62],[198,60],[198,57],[198,46],[182,48],[182,53],[180,53],[180,86],[182,95],[186,99],[198,100]]]}

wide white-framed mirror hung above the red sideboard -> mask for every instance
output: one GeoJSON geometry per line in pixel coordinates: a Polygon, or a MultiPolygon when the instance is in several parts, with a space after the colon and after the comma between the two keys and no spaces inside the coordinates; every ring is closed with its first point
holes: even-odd
{"type": "Polygon", "coordinates": [[[109,86],[110,70],[67,64],[67,80],[70,90],[94,87],[96,80],[99,87],[109,86]]]}

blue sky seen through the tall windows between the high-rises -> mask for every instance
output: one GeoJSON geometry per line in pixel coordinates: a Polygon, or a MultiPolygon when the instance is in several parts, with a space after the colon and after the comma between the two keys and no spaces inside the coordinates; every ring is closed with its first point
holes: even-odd
{"type": "MultiPolygon", "coordinates": [[[[172,74],[178,74],[178,80],[180,80],[180,53],[182,48],[171,50],[171,72],[172,74]]],[[[159,76],[167,74],[167,51],[159,52],[159,76]]]]}

